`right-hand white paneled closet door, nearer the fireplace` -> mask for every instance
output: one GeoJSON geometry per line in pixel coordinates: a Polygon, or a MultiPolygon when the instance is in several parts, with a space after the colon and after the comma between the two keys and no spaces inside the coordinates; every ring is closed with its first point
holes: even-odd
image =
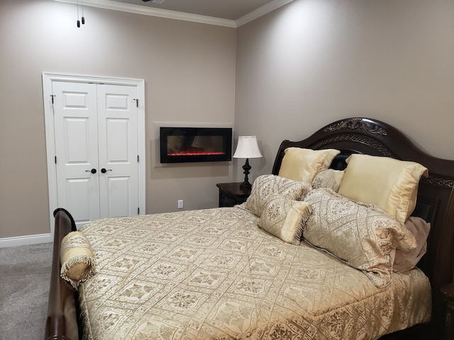
{"type": "Polygon", "coordinates": [[[99,84],[97,92],[100,216],[137,215],[137,88],[99,84]]]}

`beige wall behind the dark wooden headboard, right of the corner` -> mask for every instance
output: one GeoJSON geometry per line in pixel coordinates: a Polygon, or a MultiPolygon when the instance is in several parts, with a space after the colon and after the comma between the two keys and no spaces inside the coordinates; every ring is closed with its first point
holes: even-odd
{"type": "Polygon", "coordinates": [[[453,0],[295,0],[238,28],[236,134],[264,154],[251,177],[282,140],[352,116],[454,159],[453,0]]]}

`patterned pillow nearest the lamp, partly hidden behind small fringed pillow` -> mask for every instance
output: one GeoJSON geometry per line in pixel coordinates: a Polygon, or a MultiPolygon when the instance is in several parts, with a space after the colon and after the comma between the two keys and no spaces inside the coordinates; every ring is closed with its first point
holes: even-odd
{"type": "Polygon", "coordinates": [[[311,190],[311,183],[292,181],[275,175],[258,176],[253,183],[245,208],[260,217],[265,208],[265,200],[272,193],[279,193],[292,200],[301,200],[311,190]]]}

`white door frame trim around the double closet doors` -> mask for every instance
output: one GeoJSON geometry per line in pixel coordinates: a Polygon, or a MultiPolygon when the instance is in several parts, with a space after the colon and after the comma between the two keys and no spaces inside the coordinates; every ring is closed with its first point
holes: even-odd
{"type": "Polygon", "coordinates": [[[57,166],[55,164],[55,125],[52,105],[52,82],[94,83],[135,86],[138,89],[138,208],[140,215],[145,214],[145,80],[82,76],[75,74],[56,74],[43,72],[43,100],[45,120],[45,145],[48,164],[49,220],[50,236],[54,237],[53,212],[58,207],[57,166]]]}

